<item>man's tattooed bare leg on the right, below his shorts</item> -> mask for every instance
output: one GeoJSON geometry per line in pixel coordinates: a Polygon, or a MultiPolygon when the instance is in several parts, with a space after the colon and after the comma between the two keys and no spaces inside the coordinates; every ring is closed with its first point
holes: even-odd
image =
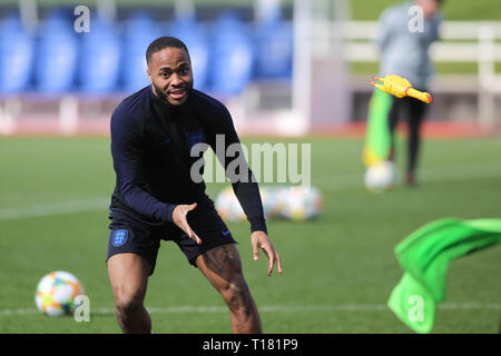
{"type": "Polygon", "coordinates": [[[198,269],[220,293],[229,308],[234,334],[261,334],[259,313],[242,274],[235,245],[215,247],[196,259],[198,269]]]}

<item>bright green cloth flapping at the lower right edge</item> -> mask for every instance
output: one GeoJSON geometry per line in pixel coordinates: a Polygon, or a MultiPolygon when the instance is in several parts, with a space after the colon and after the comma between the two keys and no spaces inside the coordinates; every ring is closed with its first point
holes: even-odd
{"type": "Polygon", "coordinates": [[[441,219],[411,234],[395,247],[405,270],[389,307],[418,333],[430,333],[435,304],[445,299],[449,263],[501,243],[501,219],[441,219]]]}

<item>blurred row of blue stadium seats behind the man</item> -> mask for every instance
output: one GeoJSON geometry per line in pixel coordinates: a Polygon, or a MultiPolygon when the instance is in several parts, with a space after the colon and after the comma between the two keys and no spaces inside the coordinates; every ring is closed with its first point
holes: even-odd
{"type": "Polygon", "coordinates": [[[213,22],[157,21],[146,11],[127,20],[90,19],[77,33],[71,12],[53,10],[37,31],[27,31],[17,13],[0,21],[0,93],[134,92],[148,85],[145,52],[159,36],[187,44],[195,88],[222,96],[239,93],[249,80],[291,78],[292,26],[279,19],[249,27],[233,12],[213,22]]]}

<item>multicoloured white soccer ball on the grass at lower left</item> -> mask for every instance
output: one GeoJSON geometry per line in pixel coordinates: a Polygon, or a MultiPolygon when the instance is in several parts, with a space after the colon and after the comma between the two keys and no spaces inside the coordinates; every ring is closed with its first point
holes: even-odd
{"type": "Polygon", "coordinates": [[[75,310],[75,297],[84,294],[84,286],[72,274],[52,271],[38,283],[35,303],[49,316],[70,315],[75,310]]]}

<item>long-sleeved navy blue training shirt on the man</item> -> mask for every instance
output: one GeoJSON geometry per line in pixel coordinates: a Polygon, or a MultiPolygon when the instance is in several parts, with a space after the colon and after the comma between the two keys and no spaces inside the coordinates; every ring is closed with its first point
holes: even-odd
{"type": "MultiPolygon", "coordinates": [[[[191,89],[180,106],[160,100],[151,86],[124,99],[111,116],[117,181],[110,209],[158,226],[173,222],[179,204],[214,206],[205,182],[194,182],[190,177],[191,165],[199,159],[190,157],[190,149],[207,144],[216,151],[216,135],[224,135],[225,151],[232,144],[239,145],[226,107],[198,90],[191,89]]],[[[225,171],[237,157],[226,157],[225,171]]],[[[250,230],[266,233],[258,186],[246,162],[244,168],[248,179],[233,182],[235,195],[250,230]]]]}

